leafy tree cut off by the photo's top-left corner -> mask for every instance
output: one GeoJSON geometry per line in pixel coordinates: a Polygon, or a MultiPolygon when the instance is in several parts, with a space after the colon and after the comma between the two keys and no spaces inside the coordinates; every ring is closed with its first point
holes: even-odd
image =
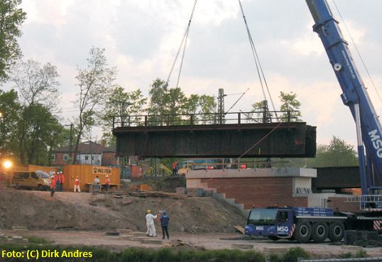
{"type": "Polygon", "coordinates": [[[0,82],[8,78],[9,67],[21,56],[17,38],[26,13],[18,8],[20,4],[21,0],[0,1],[0,82]]]}

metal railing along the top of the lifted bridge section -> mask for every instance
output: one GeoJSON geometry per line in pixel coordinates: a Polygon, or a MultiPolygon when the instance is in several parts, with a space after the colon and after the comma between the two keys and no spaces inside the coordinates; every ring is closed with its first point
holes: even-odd
{"type": "Polygon", "coordinates": [[[163,114],[113,116],[113,129],[133,126],[201,126],[296,121],[296,111],[254,111],[212,114],[163,114]]]}

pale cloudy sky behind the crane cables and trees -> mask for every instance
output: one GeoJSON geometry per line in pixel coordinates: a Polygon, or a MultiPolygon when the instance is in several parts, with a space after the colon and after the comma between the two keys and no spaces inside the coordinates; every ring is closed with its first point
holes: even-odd
{"type": "MultiPolygon", "coordinates": [[[[356,129],[324,48],[312,31],[313,20],[304,0],[242,0],[246,20],[276,109],[280,92],[295,92],[302,119],[317,126],[317,143],[332,136],[356,145],[356,129]]],[[[366,63],[376,89],[351,44],[361,77],[380,114],[382,102],[382,21],[380,0],[335,0],[366,63]]],[[[78,87],[77,69],[86,67],[92,46],[106,48],[116,82],[126,91],[140,88],[148,95],[157,77],[165,80],[182,40],[194,0],[23,0],[27,13],[19,44],[23,59],[57,66],[60,75],[62,124],[77,114],[72,101],[78,87]]],[[[329,5],[340,21],[333,1],[329,5]]],[[[170,78],[176,84],[178,67],[170,78]]],[[[12,84],[8,84],[11,87],[12,84]]],[[[239,2],[199,0],[195,9],[179,86],[186,94],[217,96],[246,92],[231,112],[249,111],[263,100],[239,2]]],[[[231,107],[238,95],[225,99],[231,107]]],[[[94,131],[94,136],[101,137],[94,131]]]]}

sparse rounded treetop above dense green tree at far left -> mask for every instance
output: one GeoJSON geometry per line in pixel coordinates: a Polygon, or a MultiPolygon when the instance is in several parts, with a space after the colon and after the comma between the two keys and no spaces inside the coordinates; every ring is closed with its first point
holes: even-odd
{"type": "Polygon", "coordinates": [[[20,60],[11,72],[11,81],[20,90],[26,104],[41,104],[53,111],[59,102],[58,77],[57,67],[49,62],[41,65],[32,59],[26,62],[20,60]]]}

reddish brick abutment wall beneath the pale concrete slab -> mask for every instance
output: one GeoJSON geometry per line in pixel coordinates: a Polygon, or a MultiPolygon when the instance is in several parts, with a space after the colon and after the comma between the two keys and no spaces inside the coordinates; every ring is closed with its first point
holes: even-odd
{"type": "Polygon", "coordinates": [[[201,182],[226,198],[234,198],[245,209],[289,205],[307,207],[307,197],[293,197],[293,178],[202,178],[201,182]]]}

